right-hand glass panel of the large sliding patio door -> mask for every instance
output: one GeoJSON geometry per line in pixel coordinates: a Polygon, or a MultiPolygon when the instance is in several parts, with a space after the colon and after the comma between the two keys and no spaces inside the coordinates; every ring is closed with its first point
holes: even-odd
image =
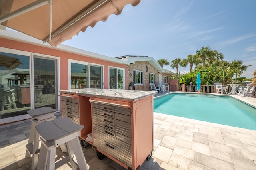
{"type": "Polygon", "coordinates": [[[34,57],[35,108],[56,109],[55,60],[34,57]]]}

